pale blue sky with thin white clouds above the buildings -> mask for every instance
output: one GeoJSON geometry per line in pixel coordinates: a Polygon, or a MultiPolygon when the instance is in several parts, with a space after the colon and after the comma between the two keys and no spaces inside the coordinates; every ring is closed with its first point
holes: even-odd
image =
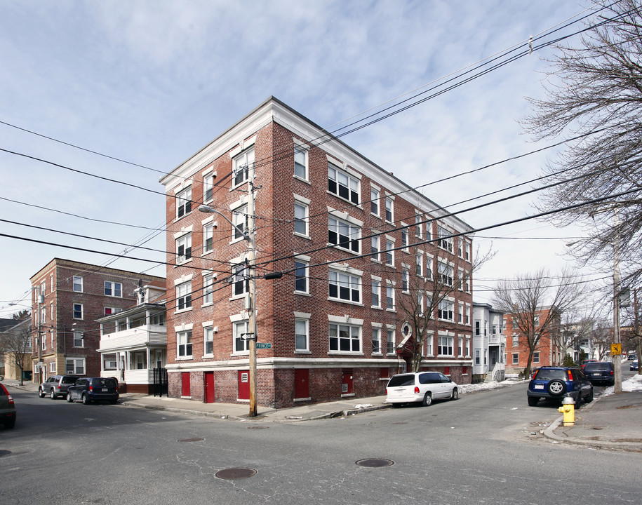
{"type": "MultiPolygon", "coordinates": [[[[0,0],[0,234],[11,236],[0,236],[0,317],[20,308],[8,304],[28,296],[29,277],[53,257],[164,276],[153,262],[46,243],[163,261],[159,177],[270,95],[335,130],[534,36],[533,54],[342,140],[413,186],[553,143],[530,142],[518,121],[525,97],[542,97],[550,50],[538,46],[580,25],[537,36],[588,4],[0,0]],[[127,246],[143,243],[153,250],[127,246]]],[[[553,155],[422,191],[449,206],[531,180],[553,155]]],[[[488,227],[533,215],[536,198],[460,217],[488,227]]],[[[475,301],[490,302],[497,279],[559,270],[578,233],[535,220],[480,231],[475,242],[497,255],[476,274],[475,301]]]]}

